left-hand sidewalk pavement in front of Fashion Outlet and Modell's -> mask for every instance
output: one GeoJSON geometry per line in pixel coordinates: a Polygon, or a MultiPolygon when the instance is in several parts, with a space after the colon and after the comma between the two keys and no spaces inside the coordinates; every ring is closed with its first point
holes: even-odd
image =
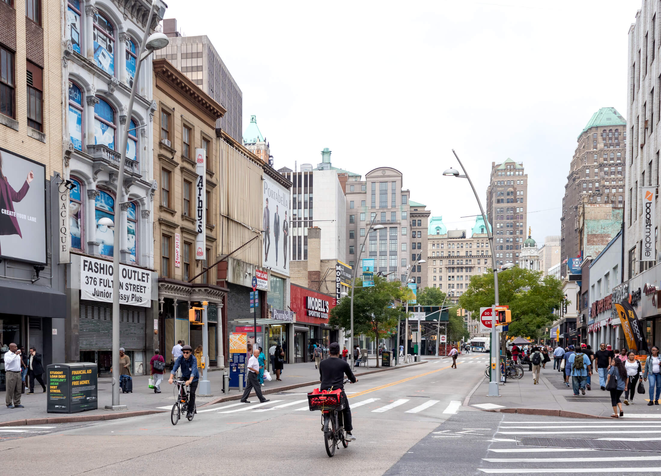
{"type": "MultiPolygon", "coordinates": [[[[422,363],[422,362],[421,362],[422,363]]],[[[356,375],[372,373],[375,370],[376,360],[371,358],[369,360],[369,367],[356,367],[354,371],[356,375]]],[[[396,367],[387,367],[384,371],[395,370],[406,366],[418,364],[400,364],[396,367]]],[[[205,404],[219,403],[227,400],[238,400],[241,398],[241,392],[238,389],[231,389],[228,395],[225,395],[223,389],[223,374],[224,372],[208,372],[208,379],[211,382],[212,396],[196,397],[196,404],[198,407],[205,404]]],[[[112,404],[112,380],[109,377],[98,379],[98,409],[90,410],[81,413],[62,414],[62,413],[48,413],[46,412],[46,393],[42,393],[41,387],[37,384],[34,395],[27,395],[29,391],[22,394],[20,403],[24,405],[23,409],[8,409],[5,405],[5,392],[0,393],[0,426],[7,424],[46,424],[53,422],[71,422],[71,421],[88,421],[88,420],[110,420],[114,418],[125,418],[126,416],[139,416],[147,415],[149,413],[157,413],[162,411],[169,411],[175,401],[176,385],[169,385],[169,372],[163,376],[161,383],[161,392],[154,393],[153,389],[148,387],[149,376],[136,376],[133,378],[133,393],[121,393],[120,403],[128,405],[128,411],[107,411],[104,410],[105,405],[112,404]],[[48,418],[48,420],[46,420],[48,418]],[[36,419],[36,420],[35,420],[36,419]],[[20,420],[20,421],[19,421],[20,420]],[[26,420],[30,420],[26,422],[26,420]]],[[[272,374],[272,381],[264,381],[262,392],[265,394],[276,393],[303,385],[313,385],[319,382],[319,370],[315,369],[314,362],[305,362],[304,364],[285,364],[282,375],[282,381],[276,381],[275,374],[272,374]]],[[[252,393],[254,395],[254,393],[252,393]]]]}

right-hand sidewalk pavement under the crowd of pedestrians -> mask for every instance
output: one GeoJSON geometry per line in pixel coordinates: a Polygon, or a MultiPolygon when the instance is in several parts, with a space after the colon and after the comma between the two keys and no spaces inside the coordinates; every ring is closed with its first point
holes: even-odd
{"type": "MultiPolygon", "coordinates": [[[[565,387],[564,374],[553,370],[553,362],[547,363],[546,368],[541,370],[537,385],[533,384],[533,374],[527,366],[524,366],[524,372],[521,379],[507,379],[507,383],[498,385],[500,397],[486,396],[489,382],[485,377],[464,405],[502,413],[576,418],[609,418],[613,414],[610,393],[600,389],[596,374],[592,374],[592,390],[586,390],[585,395],[574,396],[571,377],[569,387],[565,387]]],[[[624,418],[661,418],[661,405],[648,407],[648,382],[644,385],[644,395],[637,393],[633,405],[622,405],[624,418]]],[[[620,400],[624,401],[624,394],[620,400]]]]}

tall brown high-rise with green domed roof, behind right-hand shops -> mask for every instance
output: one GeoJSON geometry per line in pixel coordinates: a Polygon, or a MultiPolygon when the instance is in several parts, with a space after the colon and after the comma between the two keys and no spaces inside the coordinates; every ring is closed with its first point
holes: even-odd
{"type": "MultiPolygon", "coordinates": [[[[561,260],[580,255],[580,204],[624,204],[627,121],[615,108],[601,108],[578,134],[564,185],[561,218],[561,260]]],[[[551,266],[549,266],[550,268],[551,266]]]]}

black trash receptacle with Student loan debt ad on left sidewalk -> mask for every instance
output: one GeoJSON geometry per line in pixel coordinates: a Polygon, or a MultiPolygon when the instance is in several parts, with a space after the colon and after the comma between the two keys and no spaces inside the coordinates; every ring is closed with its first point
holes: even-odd
{"type": "Polygon", "coordinates": [[[98,408],[97,364],[50,364],[48,377],[48,413],[78,413],[98,408]]]}

